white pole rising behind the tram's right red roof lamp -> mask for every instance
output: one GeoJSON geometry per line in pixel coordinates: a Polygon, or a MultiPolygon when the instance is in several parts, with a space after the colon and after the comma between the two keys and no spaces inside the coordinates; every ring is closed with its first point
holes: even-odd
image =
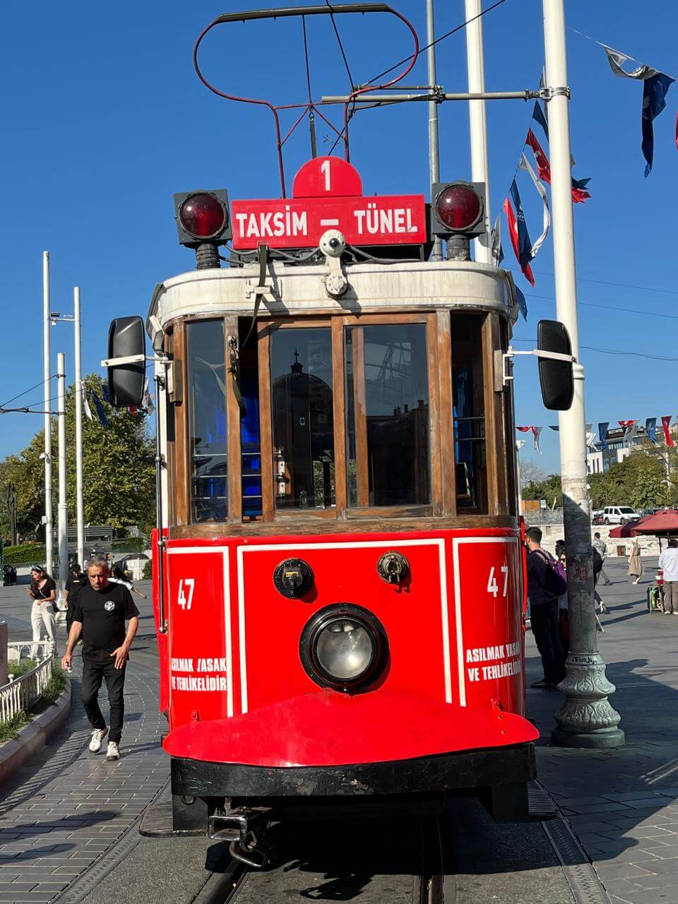
{"type": "MultiPolygon", "coordinates": [[[[469,94],[485,91],[485,54],[483,52],[482,0],[466,0],[466,67],[469,94]],[[473,20],[473,21],[470,21],[473,20]]],[[[471,136],[471,179],[485,183],[485,233],[474,239],[476,260],[492,263],[492,223],[490,221],[490,168],[487,155],[487,118],[485,100],[468,101],[471,136]]]]}

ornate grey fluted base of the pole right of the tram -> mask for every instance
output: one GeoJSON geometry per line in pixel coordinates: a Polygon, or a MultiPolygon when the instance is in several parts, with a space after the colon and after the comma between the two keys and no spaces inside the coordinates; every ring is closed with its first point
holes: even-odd
{"type": "Polygon", "coordinates": [[[558,728],[551,740],[558,747],[611,749],[624,744],[624,732],[617,728],[621,716],[607,695],[615,685],[607,680],[605,663],[599,653],[570,653],[567,674],[558,685],[565,702],[556,712],[558,728]]]}

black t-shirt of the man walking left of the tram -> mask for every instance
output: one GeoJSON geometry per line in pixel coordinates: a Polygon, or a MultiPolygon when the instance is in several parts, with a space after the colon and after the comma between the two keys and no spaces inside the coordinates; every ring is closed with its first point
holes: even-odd
{"type": "Polygon", "coordinates": [[[75,601],[73,621],[82,624],[83,653],[112,653],[125,640],[125,622],[138,616],[132,595],[122,584],[95,590],[83,587],[75,601]]]}

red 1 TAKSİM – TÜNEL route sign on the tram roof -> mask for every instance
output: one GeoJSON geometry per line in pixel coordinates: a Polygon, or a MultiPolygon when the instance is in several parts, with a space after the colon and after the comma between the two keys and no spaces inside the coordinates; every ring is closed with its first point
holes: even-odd
{"type": "Polygon", "coordinates": [[[292,198],[231,202],[233,247],[314,248],[338,229],[350,245],[421,245],[427,240],[423,194],[363,196],[354,166],[340,157],[304,164],[292,198]]]}

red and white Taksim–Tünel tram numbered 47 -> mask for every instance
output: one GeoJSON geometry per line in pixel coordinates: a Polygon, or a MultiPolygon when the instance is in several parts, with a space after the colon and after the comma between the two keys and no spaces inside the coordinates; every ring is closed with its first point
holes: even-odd
{"type": "MultiPolygon", "coordinates": [[[[461,792],[526,815],[515,291],[467,254],[428,259],[434,234],[467,249],[482,193],[366,197],[316,157],[291,199],[175,203],[198,268],[146,319],[174,833],[251,858],[256,821],[292,805],[461,792]]],[[[108,355],[111,398],[137,404],[140,318],[113,322],[108,355]]],[[[571,396],[562,358],[540,362],[551,407],[571,396]]]]}

